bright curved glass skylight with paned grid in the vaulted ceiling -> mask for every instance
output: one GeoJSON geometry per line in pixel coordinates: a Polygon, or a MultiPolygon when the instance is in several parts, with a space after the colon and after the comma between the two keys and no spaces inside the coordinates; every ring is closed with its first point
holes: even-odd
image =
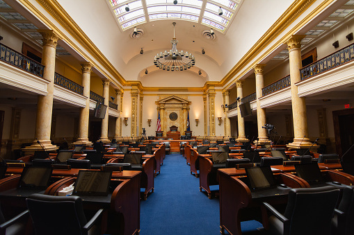
{"type": "Polygon", "coordinates": [[[161,19],[184,19],[224,32],[242,0],[106,0],[122,30],[161,19]],[[129,11],[126,9],[129,8],[129,11]],[[218,10],[223,15],[218,15],[218,10]]]}

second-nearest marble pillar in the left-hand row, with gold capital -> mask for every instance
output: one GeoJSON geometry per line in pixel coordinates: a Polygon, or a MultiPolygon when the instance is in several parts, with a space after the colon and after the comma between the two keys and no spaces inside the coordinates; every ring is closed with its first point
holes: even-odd
{"type": "Polygon", "coordinates": [[[82,71],[82,86],[83,96],[86,97],[86,106],[80,108],[79,118],[79,138],[74,144],[83,144],[86,146],[92,145],[91,141],[88,141],[88,125],[89,125],[89,112],[90,112],[90,73],[91,64],[81,64],[82,71]]]}

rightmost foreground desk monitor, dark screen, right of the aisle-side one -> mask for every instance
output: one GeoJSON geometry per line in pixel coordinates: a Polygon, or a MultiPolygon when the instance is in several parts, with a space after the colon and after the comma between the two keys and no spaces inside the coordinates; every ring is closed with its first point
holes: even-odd
{"type": "Polygon", "coordinates": [[[296,170],[296,175],[306,180],[309,184],[325,182],[325,180],[323,180],[321,170],[318,164],[296,164],[294,166],[296,170]]]}

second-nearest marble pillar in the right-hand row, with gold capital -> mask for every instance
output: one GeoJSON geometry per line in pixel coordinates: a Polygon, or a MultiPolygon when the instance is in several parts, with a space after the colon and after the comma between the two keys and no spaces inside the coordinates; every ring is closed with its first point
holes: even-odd
{"type": "Polygon", "coordinates": [[[262,128],[264,124],[266,124],[266,110],[262,109],[261,101],[259,98],[262,97],[262,88],[264,87],[264,79],[263,79],[263,67],[266,64],[257,64],[255,67],[255,75],[256,75],[256,97],[257,97],[257,129],[258,129],[258,144],[264,144],[268,141],[266,129],[262,128]]]}

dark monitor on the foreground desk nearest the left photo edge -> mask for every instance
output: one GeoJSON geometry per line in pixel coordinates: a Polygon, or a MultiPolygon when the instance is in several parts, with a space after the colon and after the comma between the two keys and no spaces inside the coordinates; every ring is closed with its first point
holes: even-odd
{"type": "Polygon", "coordinates": [[[51,167],[26,166],[19,179],[19,188],[46,189],[51,177],[51,167]]]}

